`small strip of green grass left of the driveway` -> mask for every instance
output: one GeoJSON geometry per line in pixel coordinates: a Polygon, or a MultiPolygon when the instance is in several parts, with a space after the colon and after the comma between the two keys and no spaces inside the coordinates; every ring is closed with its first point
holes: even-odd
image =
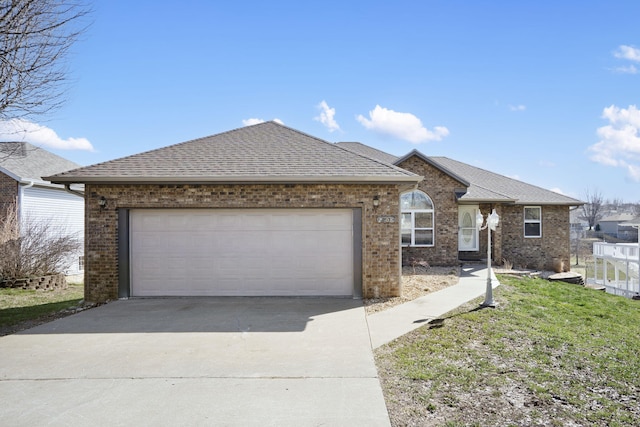
{"type": "Polygon", "coordinates": [[[37,320],[76,307],[83,298],[82,284],[53,291],[0,288],[0,328],[37,320]]]}

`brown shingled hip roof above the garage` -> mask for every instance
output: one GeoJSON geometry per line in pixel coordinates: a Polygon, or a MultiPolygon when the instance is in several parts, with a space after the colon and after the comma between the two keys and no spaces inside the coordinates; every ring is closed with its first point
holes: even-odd
{"type": "Polygon", "coordinates": [[[56,183],[416,183],[422,178],[275,122],[49,177],[56,183]]]}

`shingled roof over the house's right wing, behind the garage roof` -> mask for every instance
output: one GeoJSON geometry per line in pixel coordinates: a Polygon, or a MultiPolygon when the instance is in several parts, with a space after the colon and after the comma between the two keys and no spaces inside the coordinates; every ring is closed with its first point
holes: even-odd
{"type": "Polygon", "coordinates": [[[403,157],[395,157],[383,151],[368,147],[360,143],[339,142],[348,150],[387,161],[398,165],[412,156],[418,156],[435,168],[443,171],[467,187],[464,194],[458,195],[462,203],[515,203],[532,205],[566,205],[579,206],[584,202],[563,196],[551,190],[527,184],[516,179],[508,178],[494,172],[487,171],[448,157],[425,156],[418,150],[413,150],[403,157]]]}

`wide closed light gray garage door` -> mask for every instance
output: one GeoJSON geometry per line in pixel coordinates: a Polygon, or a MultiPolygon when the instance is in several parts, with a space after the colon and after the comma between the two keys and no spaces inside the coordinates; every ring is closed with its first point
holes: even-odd
{"type": "Polygon", "coordinates": [[[349,209],[130,212],[132,296],[352,295],[349,209]]]}

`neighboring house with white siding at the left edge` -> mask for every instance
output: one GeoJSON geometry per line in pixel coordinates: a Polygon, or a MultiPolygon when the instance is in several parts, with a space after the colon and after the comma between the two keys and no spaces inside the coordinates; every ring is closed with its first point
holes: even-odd
{"type": "Polygon", "coordinates": [[[0,215],[16,203],[20,220],[46,221],[52,233],[74,235],[83,242],[69,258],[67,275],[84,271],[83,187],[52,184],[42,179],[80,165],[26,142],[0,142],[0,215]]]}

